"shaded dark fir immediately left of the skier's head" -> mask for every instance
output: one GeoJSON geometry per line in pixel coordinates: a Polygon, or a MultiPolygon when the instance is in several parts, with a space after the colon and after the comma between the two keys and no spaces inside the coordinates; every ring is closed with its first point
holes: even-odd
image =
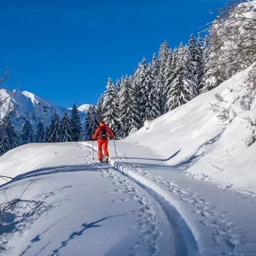
{"type": "Polygon", "coordinates": [[[91,140],[98,125],[99,116],[97,108],[92,104],[90,105],[85,118],[85,140],[91,140]]]}

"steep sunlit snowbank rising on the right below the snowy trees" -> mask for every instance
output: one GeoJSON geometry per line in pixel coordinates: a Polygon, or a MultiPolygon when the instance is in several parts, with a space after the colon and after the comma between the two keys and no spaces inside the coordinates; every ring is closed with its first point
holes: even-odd
{"type": "Polygon", "coordinates": [[[256,192],[256,145],[252,144],[249,122],[250,119],[256,124],[256,100],[252,99],[245,108],[243,88],[253,68],[160,116],[150,127],[141,128],[125,141],[150,148],[166,165],[179,166],[196,179],[256,192]],[[221,101],[215,94],[221,96],[221,101]],[[222,110],[230,108],[224,123],[211,104],[222,110]],[[173,154],[175,157],[171,157],[173,154]]]}

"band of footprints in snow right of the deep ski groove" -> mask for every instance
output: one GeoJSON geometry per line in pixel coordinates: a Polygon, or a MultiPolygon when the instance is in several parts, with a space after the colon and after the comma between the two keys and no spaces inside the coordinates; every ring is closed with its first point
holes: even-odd
{"type": "MultiPolygon", "coordinates": [[[[185,203],[191,204],[192,206],[196,206],[196,210],[192,210],[194,214],[201,215],[200,222],[208,226],[210,228],[214,228],[215,232],[212,233],[212,243],[216,245],[223,245],[223,251],[220,255],[241,255],[240,253],[236,253],[235,249],[239,245],[239,229],[237,229],[233,223],[225,219],[226,212],[220,212],[216,207],[211,206],[210,202],[207,199],[196,195],[195,193],[190,192],[189,188],[182,188],[179,187],[174,181],[170,179],[163,178],[162,176],[155,176],[149,173],[147,170],[143,170],[137,165],[133,163],[129,163],[125,157],[125,154],[122,151],[118,151],[118,155],[122,162],[125,162],[134,170],[138,171],[140,174],[145,176],[148,179],[151,179],[157,184],[163,185],[165,188],[168,189],[171,193],[176,195],[180,200],[184,201],[185,203]]],[[[122,172],[122,170],[120,170],[122,172]]],[[[243,193],[240,192],[241,196],[251,196],[250,193],[243,193]]],[[[237,192],[237,194],[240,193],[237,192]]]]}

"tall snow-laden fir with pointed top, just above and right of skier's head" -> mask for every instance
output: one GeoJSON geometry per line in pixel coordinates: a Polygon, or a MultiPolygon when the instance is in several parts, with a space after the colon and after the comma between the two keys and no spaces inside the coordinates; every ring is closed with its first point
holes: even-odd
{"type": "Polygon", "coordinates": [[[118,96],[116,95],[116,88],[110,78],[107,82],[107,90],[104,94],[103,114],[104,121],[115,132],[120,132],[119,109],[118,109],[118,96]]]}

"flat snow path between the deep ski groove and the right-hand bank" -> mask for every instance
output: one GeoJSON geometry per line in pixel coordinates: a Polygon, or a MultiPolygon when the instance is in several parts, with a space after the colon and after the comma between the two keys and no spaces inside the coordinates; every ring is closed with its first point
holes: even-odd
{"type": "MultiPolygon", "coordinates": [[[[228,192],[192,179],[178,168],[159,162],[146,148],[122,141],[117,144],[119,158],[112,157],[111,164],[154,195],[167,215],[169,211],[188,251],[194,249],[194,237],[201,255],[256,255],[254,195],[228,192]]],[[[113,146],[110,148],[114,155],[113,146]]]]}

